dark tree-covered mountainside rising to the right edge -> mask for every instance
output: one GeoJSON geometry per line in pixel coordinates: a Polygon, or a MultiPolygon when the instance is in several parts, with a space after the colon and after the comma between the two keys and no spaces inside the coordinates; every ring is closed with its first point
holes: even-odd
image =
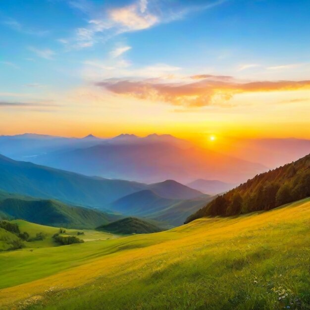
{"type": "Polygon", "coordinates": [[[189,216],[186,223],[204,216],[236,215],[270,210],[310,196],[310,154],[261,173],[189,216]]]}

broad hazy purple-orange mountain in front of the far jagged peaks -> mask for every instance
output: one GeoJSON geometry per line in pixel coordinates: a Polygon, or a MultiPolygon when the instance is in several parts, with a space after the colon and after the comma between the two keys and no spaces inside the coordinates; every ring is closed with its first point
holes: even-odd
{"type": "MultiPolygon", "coordinates": [[[[146,138],[134,140],[137,139],[146,138]]],[[[173,143],[143,141],[145,142],[105,143],[40,155],[31,160],[89,176],[144,183],[173,179],[186,184],[199,178],[240,183],[267,170],[260,164],[199,147],[180,148],[173,143]]]]}

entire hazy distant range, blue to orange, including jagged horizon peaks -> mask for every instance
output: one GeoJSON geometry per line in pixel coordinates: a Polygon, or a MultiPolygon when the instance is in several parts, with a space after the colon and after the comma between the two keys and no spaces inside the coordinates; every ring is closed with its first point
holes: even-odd
{"type": "Polygon", "coordinates": [[[173,179],[219,179],[240,183],[267,168],[252,160],[222,155],[171,135],[122,134],[82,139],[25,134],[0,136],[0,153],[57,169],[109,179],[156,183],[173,179]]]}

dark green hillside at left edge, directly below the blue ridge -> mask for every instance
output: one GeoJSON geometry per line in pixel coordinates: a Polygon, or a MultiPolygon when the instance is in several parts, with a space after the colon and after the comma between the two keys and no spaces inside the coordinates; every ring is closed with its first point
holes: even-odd
{"type": "Polygon", "coordinates": [[[53,200],[0,200],[0,218],[24,219],[37,224],[95,228],[119,216],[84,207],[71,207],[53,200]]]}

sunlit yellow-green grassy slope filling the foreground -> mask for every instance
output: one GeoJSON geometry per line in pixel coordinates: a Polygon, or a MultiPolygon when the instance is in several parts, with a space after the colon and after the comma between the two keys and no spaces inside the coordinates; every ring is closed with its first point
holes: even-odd
{"type": "Polygon", "coordinates": [[[310,309],[310,199],[0,266],[0,309],[310,309]]]}

